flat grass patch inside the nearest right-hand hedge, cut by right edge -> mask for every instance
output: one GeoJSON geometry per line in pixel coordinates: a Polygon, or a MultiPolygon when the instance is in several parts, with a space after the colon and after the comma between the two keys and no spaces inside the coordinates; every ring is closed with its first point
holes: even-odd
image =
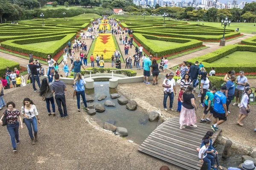
{"type": "Polygon", "coordinates": [[[212,63],[256,63],[256,53],[250,51],[235,51],[212,63]]]}

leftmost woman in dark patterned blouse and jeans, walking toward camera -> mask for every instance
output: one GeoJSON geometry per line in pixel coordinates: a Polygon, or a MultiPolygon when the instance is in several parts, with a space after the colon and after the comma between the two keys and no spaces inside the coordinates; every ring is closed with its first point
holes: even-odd
{"type": "Polygon", "coordinates": [[[2,126],[7,125],[7,130],[11,137],[12,147],[13,151],[17,151],[16,144],[20,143],[19,139],[19,127],[23,129],[23,123],[20,116],[20,112],[15,109],[15,103],[14,102],[7,102],[6,103],[8,109],[3,112],[3,116],[0,119],[0,124],[2,126]],[[18,119],[20,120],[20,124],[18,122],[18,119]],[[16,139],[16,141],[15,141],[16,139]]]}

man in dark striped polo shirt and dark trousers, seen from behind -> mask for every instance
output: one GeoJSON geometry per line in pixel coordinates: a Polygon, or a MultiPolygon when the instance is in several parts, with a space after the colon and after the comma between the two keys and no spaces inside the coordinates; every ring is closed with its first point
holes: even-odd
{"type": "Polygon", "coordinates": [[[67,91],[67,87],[64,82],[59,80],[59,78],[60,78],[59,74],[54,75],[55,82],[52,83],[51,90],[52,90],[52,93],[55,93],[55,100],[58,105],[58,111],[61,115],[61,118],[64,118],[68,116],[66,98],[64,93],[64,91],[67,91]],[[62,111],[61,104],[63,106],[64,113],[62,111]]]}

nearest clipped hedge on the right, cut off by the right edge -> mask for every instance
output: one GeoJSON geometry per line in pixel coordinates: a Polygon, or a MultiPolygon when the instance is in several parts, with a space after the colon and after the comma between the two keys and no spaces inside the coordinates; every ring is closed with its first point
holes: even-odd
{"type": "Polygon", "coordinates": [[[214,67],[215,73],[227,73],[230,70],[234,70],[236,73],[241,70],[248,73],[255,72],[256,63],[211,63],[235,51],[256,52],[256,46],[227,45],[204,56],[189,59],[187,62],[191,62],[192,64],[194,64],[195,61],[203,62],[204,68],[207,72],[211,71],[212,67],[214,67]]]}

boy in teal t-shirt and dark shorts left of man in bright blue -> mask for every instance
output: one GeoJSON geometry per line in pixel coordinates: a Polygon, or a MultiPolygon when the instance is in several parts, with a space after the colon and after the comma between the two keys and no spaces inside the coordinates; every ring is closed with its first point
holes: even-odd
{"type": "Polygon", "coordinates": [[[208,91],[205,95],[205,101],[204,101],[204,113],[202,116],[202,119],[200,120],[200,122],[208,122],[210,123],[210,117],[213,114],[213,104],[214,104],[214,94],[217,91],[217,88],[212,87],[211,91],[208,91]],[[210,111],[210,114],[207,116],[206,119],[204,119],[204,117],[207,115],[207,113],[210,111]]]}

